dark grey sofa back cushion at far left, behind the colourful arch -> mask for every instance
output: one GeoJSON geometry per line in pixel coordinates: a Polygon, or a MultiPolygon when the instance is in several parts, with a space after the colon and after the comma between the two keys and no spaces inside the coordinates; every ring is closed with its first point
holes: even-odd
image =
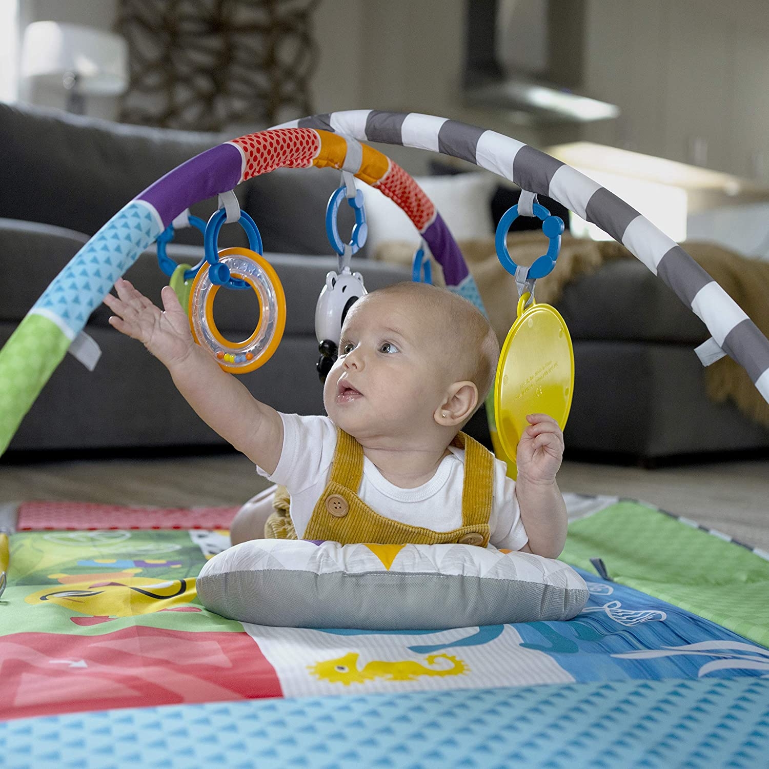
{"type": "MultiPolygon", "coordinates": [[[[0,198],[0,216],[93,235],[161,176],[226,138],[0,104],[0,187],[13,190],[0,198]]],[[[215,201],[207,201],[192,212],[207,219],[214,210],[215,201]]],[[[202,242],[186,228],[177,240],[202,242]]],[[[241,228],[222,230],[223,245],[246,242],[241,228]]]]}

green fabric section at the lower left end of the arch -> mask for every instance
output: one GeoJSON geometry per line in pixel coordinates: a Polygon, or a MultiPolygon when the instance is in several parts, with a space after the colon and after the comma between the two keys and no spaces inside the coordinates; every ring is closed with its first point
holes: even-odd
{"type": "Polygon", "coordinates": [[[0,455],[69,345],[53,321],[27,315],[0,350],[0,455]]]}

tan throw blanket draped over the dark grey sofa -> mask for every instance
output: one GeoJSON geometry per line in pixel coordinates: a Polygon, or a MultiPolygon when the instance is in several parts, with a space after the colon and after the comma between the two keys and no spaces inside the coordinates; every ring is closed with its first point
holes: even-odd
{"type": "MultiPolygon", "coordinates": [[[[531,265],[544,248],[541,232],[516,232],[508,236],[508,249],[520,265],[531,265]]],[[[769,262],[735,254],[713,243],[691,241],[684,249],[727,292],[752,321],[769,336],[769,262]]],[[[515,321],[517,295],[512,275],[499,263],[494,238],[460,241],[459,247],[468,263],[478,291],[489,314],[489,320],[500,342],[515,321]]],[[[383,243],[376,257],[401,265],[411,265],[413,245],[402,241],[383,243]]],[[[561,298],[564,286],[579,275],[598,270],[605,261],[635,258],[616,241],[591,241],[564,235],[557,267],[546,278],[537,281],[538,301],[554,304],[561,298]]],[[[444,285],[440,265],[433,263],[433,282],[444,285]]],[[[769,427],[769,404],[757,391],[744,368],[728,356],[707,367],[707,394],[716,403],[731,398],[748,418],[769,427]]]]}

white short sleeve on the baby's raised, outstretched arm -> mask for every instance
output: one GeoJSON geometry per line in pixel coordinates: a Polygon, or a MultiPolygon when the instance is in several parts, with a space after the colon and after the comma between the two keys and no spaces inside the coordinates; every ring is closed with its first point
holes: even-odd
{"type": "Polygon", "coordinates": [[[284,414],[283,448],[275,471],[268,475],[258,465],[256,471],[268,481],[280,484],[289,494],[298,494],[318,482],[328,472],[337,443],[337,429],[328,417],[284,414]]]}

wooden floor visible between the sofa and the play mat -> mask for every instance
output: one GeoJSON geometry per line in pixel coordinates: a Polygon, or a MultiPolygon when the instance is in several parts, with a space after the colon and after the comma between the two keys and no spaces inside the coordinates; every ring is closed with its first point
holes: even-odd
{"type": "MultiPolygon", "coordinates": [[[[641,499],[769,551],[769,460],[644,470],[566,461],[561,490],[641,499]]],[[[0,464],[0,503],[241,504],[266,488],[241,454],[0,464]]]]}

